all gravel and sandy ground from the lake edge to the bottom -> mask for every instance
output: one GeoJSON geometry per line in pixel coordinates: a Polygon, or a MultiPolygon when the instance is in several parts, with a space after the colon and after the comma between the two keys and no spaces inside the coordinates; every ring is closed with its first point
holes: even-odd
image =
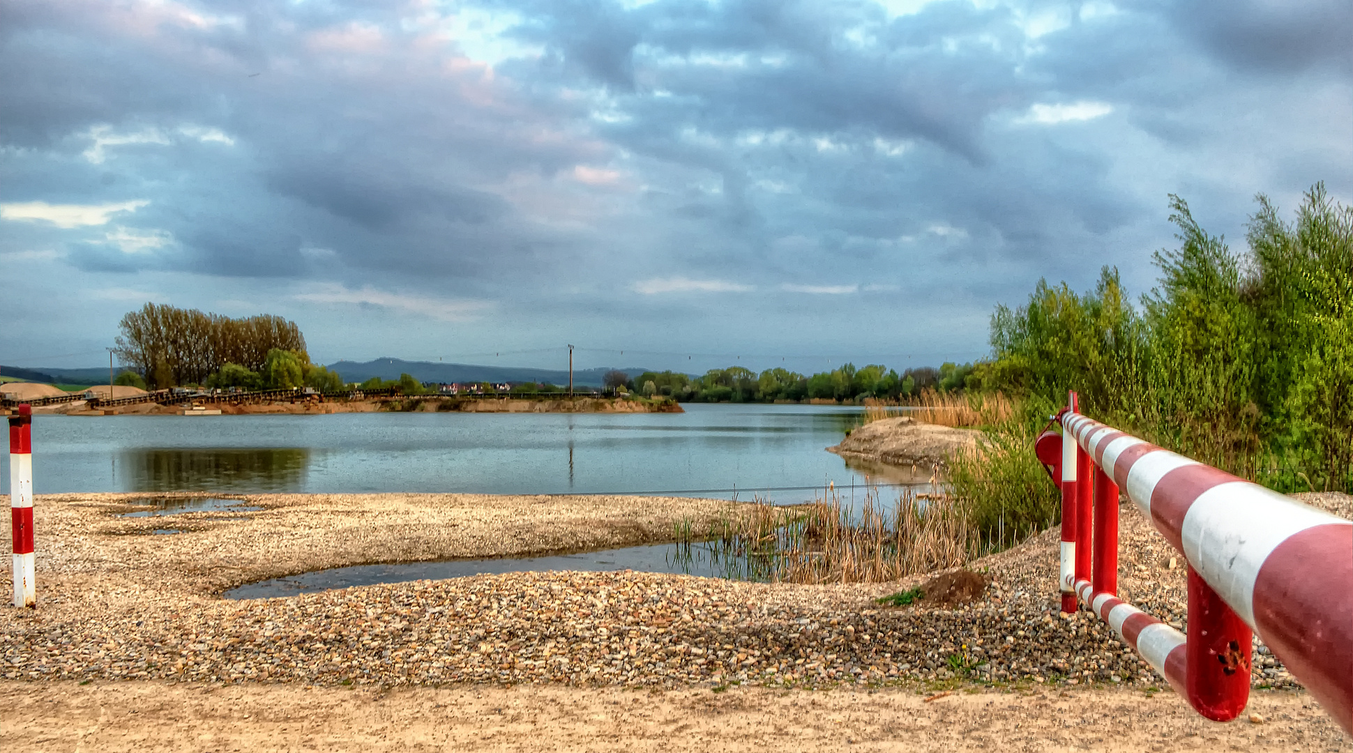
{"type": "MultiPolygon", "coordinates": [[[[39,607],[0,610],[0,750],[1353,750],[1308,695],[1262,689],[1283,684],[1280,665],[1256,664],[1246,719],[1268,723],[1206,722],[1170,691],[1153,694],[1166,685],[1101,622],[1055,616],[1055,530],[974,562],[993,587],[962,610],[873,603],[916,579],[800,587],[639,573],[223,602],[231,585],[322,566],[663,541],[674,520],[729,503],[252,495],[262,510],[118,518],[143,510],[129,504],[137,496],[38,497],[39,607]],[[150,535],[166,525],[187,533],[150,535]],[[957,643],[982,639],[989,650],[973,662],[985,673],[944,669],[957,643]],[[555,657],[571,660],[568,675],[549,669],[555,657]],[[455,673],[437,680],[438,664],[455,673]],[[804,683],[828,689],[756,687],[800,665],[804,683]],[[878,675],[874,665],[900,676],[851,677],[878,675]],[[633,684],[645,677],[658,684],[633,684]],[[957,692],[917,695],[940,689],[957,692]]],[[[1342,495],[1303,496],[1353,510],[1342,495]]],[[[1183,568],[1132,510],[1122,591],[1181,619],[1183,568]]]]}

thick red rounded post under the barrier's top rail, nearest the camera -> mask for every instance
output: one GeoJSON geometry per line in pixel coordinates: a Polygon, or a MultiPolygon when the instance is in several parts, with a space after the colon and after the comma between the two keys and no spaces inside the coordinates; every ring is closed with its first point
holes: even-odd
{"type": "Polygon", "coordinates": [[[1188,653],[1185,685],[1193,708],[1216,722],[1241,715],[1250,699],[1254,633],[1188,568],[1188,653]]]}

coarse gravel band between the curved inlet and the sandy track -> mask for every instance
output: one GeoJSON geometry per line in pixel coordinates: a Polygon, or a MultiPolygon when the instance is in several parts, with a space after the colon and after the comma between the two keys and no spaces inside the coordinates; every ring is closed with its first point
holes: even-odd
{"type": "MultiPolygon", "coordinates": [[[[1353,512],[1353,497],[1342,495],[1307,502],[1353,512]]],[[[1183,627],[1183,561],[1130,506],[1122,538],[1120,592],[1183,627]]],[[[39,610],[5,610],[0,676],[1164,687],[1101,621],[1058,614],[1057,539],[1051,530],[974,562],[992,584],[976,602],[953,608],[875,603],[924,579],[806,587],[633,572],[511,573],[252,602],[135,589],[95,598],[83,592],[85,583],[39,610]]],[[[1285,669],[1260,652],[1256,684],[1293,687],[1285,669]]]]}

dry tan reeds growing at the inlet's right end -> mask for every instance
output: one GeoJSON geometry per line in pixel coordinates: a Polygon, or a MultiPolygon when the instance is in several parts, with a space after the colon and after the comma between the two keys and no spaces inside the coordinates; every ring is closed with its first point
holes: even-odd
{"type": "Polygon", "coordinates": [[[957,497],[904,491],[888,503],[878,488],[859,504],[831,487],[794,507],[758,499],[695,533],[678,526],[682,557],[709,557],[727,577],[773,583],[886,583],[985,553],[957,497]]]}

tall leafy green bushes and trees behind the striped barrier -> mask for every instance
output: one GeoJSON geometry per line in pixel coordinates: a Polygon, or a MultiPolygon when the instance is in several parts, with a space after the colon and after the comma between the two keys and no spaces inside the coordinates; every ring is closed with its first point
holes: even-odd
{"type": "Polygon", "coordinates": [[[1172,196],[1158,287],[1134,306],[1116,269],[1080,295],[1039,281],[997,307],[977,381],[1032,422],[1076,389],[1086,415],[1238,476],[1353,492],[1353,207],[1322,184],[1292,222],[1257,204],[1233,251],[1172,196]]]}

